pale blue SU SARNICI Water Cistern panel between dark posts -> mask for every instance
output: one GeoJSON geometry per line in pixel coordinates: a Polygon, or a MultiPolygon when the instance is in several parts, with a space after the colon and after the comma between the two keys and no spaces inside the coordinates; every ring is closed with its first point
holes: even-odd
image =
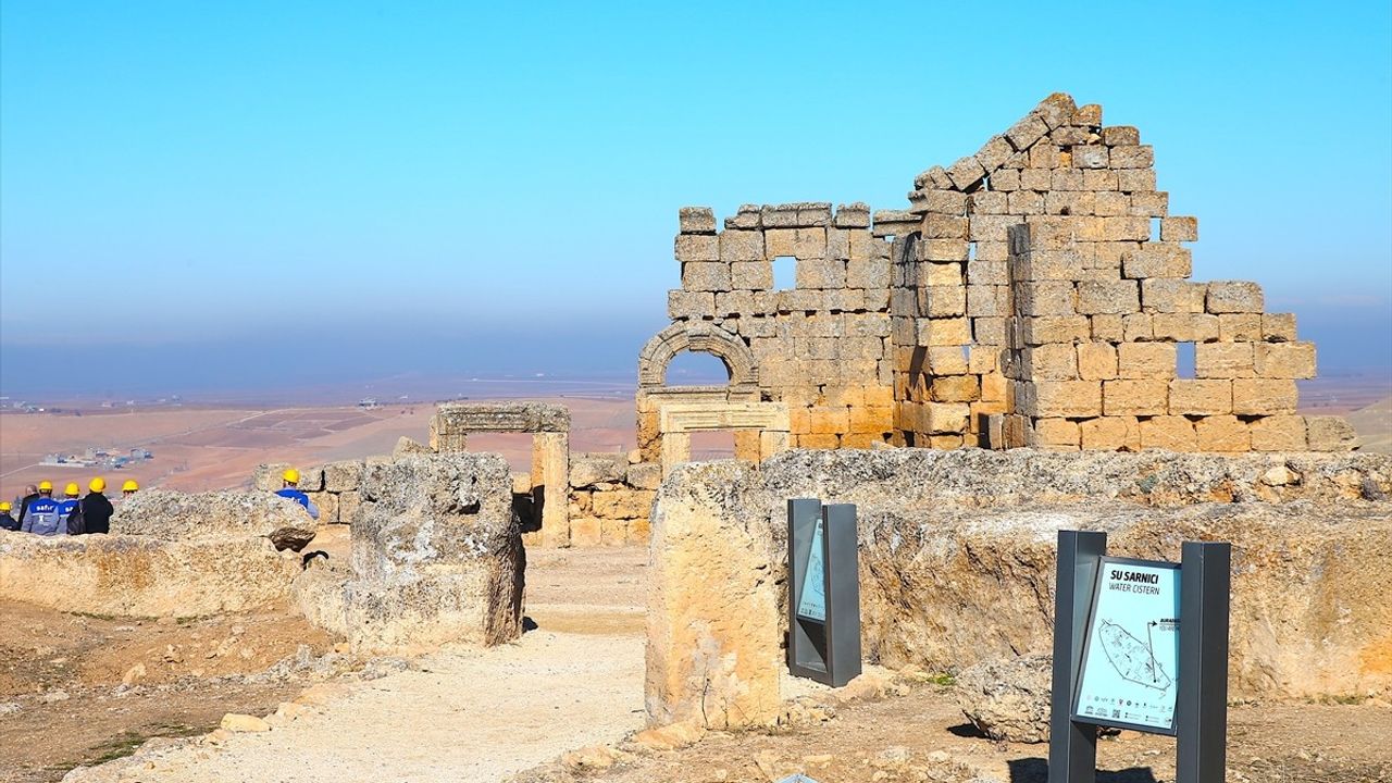
{"type": "Polygon", "coordinates": [[[1073,719],[1175,733],[1179,564],[1102,557],[1073,719]]]}

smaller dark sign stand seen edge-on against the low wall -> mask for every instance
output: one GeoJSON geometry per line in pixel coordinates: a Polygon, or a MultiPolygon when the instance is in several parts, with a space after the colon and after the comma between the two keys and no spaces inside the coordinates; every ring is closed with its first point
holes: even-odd
{"type": "Polygon", "coordinates": [[[860,674],[856,507],[788,500],[788,669],[841,687],[860,674]]]}

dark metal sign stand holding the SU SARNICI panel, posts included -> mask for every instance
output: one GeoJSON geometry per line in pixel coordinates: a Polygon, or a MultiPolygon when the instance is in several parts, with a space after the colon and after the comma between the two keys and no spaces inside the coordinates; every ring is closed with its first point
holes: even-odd
{"type": "Polygon", "coordinates": [[[1228,543],[1185,542],[1176,580],[1173,563],[1107,557],[1107,534],[1059,531],[1050,783],[1096,783],[1098,726],[1173,736],[1176,783],[1224,782],[1231,556],[1228,543]],[[1165,614],[1128,617],[1123,600],[1165,614]]]}

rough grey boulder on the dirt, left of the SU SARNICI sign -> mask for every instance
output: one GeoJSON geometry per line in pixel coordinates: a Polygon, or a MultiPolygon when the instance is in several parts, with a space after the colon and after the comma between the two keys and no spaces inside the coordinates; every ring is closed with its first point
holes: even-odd
{"type": "Polygon", "coordinates": [[[956,676],[958,704],[992,740],[1047,743],[1052,679],[1050,655],[983,660],[956,676]]]}

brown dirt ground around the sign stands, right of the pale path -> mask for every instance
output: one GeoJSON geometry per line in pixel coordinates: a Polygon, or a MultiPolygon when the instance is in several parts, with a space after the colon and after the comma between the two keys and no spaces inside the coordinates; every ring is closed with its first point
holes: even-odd
{"type": "MultiPolygon", "coordinates": [[[[1392,780],[1392,709],[1385,706],[1235,706],[1228,737],[1229,783],[1392,780]]],[[[1047,744],[987,740],[963,719],[951,688],[931,681],[784,731],[709,734],[679,751],[619,747],[633,755],[608,769],[576,773],[551,765],[509,783],[770,783],[796,773],[820,783],[1048,780],[1047,744]]],[[[1104,737],[1098,770],[1098,783],[1171,783],[1175,741],[1134,731],[1104,737]]]]}

